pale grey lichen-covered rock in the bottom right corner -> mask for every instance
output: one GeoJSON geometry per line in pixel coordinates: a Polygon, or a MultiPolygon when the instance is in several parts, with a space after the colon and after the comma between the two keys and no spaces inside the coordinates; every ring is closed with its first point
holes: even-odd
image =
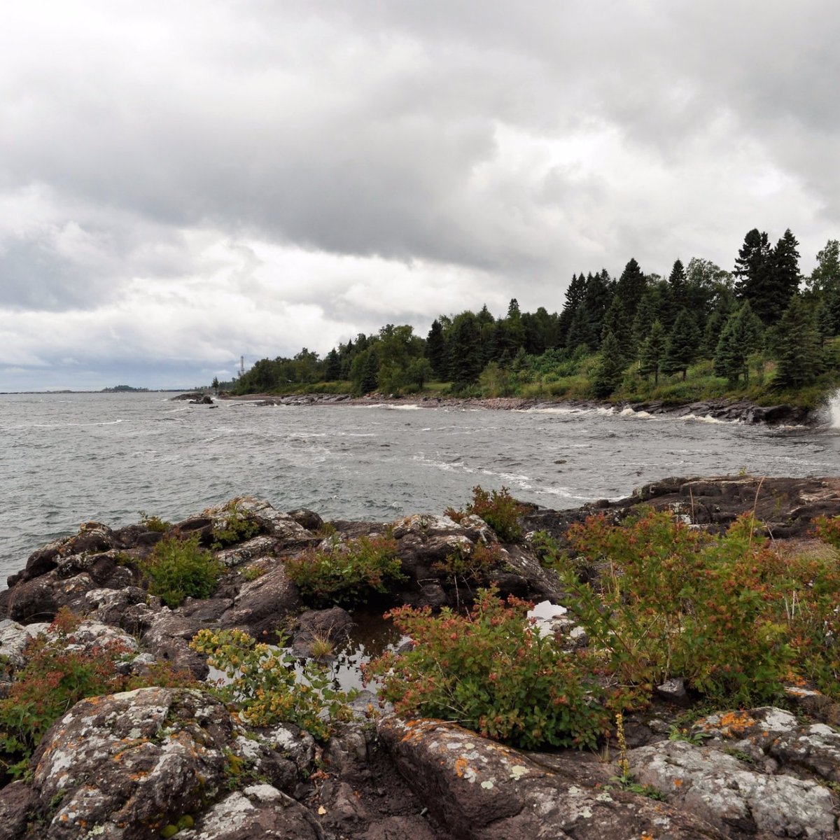
{"type": "Polygon", "coordinates": [[[832,795],[815,781],[766,774],[735,755],[685,741],[631,750],[629,761],[638,782],[730,837],[837,836],[832,795]]]}

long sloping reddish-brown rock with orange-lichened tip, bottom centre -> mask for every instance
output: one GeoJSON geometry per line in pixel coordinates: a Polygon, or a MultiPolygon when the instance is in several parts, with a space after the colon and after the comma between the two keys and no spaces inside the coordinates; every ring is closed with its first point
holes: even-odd
{"type": "Polygon", "coordinates": [[[580,772],[587,766],[580,760],[557,757],[549,769],[524,753],[437,721],[388,717],[379,733],[412,790],[464,840],[724,837],[707,822],[663,803],[597,788],[580,772]]]}

